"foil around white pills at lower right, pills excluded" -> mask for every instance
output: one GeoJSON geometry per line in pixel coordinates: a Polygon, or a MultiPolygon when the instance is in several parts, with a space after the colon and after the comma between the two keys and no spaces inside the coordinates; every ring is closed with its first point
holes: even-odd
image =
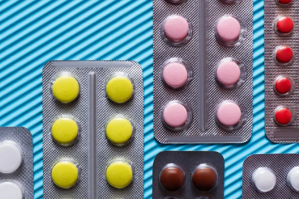
{"type": "Polygon", "coordinates": [[[299,154],[258,154],[246,158],[243,163],[243,199],[295,199],[299,192],[292,191],[287,185],[287,176],[291,169],[298,166],[299,154]],[[253,189],[252,174],[258,168],[269,168],[276,176],[274,189],[260,193],[253,189]]]}

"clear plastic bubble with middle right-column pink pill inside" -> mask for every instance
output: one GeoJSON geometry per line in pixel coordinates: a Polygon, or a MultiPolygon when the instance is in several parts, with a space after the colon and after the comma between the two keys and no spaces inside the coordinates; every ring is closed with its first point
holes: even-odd
{"type": "Polygon", "coordinates": [[[235,58],[224,58],[216,65],[215,78],[224,88],[236,88],[246,79],[245,67],[235,58]]]}

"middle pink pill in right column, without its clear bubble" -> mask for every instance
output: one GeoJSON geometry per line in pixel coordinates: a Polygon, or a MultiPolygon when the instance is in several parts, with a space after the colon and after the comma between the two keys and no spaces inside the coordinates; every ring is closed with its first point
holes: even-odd
{"type": "Polygon", "coordinates": [[[217,68],[217,78],[225,86],[232,86],[239,81],[240,68],[233,61],[222,62],[217,68]]]}

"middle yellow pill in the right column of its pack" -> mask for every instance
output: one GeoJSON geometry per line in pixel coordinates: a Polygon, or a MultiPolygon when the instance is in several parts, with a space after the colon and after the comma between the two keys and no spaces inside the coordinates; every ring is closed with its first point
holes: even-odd
{"type": "Polygon", "coordinates": [[[132,138],[133,126],[127,118],[116,116],[108,121],[105,132],[110,142],[122,146],[132,138]]]}

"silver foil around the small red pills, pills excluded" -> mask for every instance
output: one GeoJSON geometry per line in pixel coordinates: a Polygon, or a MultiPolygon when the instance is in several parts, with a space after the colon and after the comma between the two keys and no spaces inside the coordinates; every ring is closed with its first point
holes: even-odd
{"type": "Polygon", "coordinates": [[[289,106],[295,113],[299,112],[298,99],[298,1],[291,5],[278,5],[275,0],[265,0],[265,132],[267,137],[276,143],[298,143],[299,120],[295,116],[294,122],[288,126],[279,126],[274,120],[275,109],[280,106],[289,106]],[[289,16],[294,21],[294,32],[289,36],[280,36],[275,32],[274,20],[277,16],[289,16]],[[279,45],[290,46],[295,60],[288,66],[279,66],[274,60],[275,48],[279,45]],[[288,75],[295,82],[295,90],[289,96],[281,97],[274,91],[274,81],[279,75],[288,75]],[[279,135],[282,132],[282,135],[279,135]],[[290,136],[288,136],[290,134],[290,136]],[[292,135],[291,135],[292,134],[292,135]]]}

